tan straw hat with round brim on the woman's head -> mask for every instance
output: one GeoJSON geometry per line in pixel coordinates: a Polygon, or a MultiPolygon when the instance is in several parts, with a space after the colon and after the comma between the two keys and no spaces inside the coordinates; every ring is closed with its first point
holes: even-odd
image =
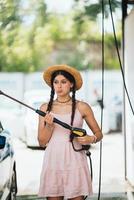
{"type": "Polygon", "coordinates": [[[50,87],[51,87],[52,74],[55,71],[60,71],[60,70],[66,71],[74,77],[75,82],[76,82],[76,90],[79,90],[81,88],[83,82],[82,82],[82,77],[81,77],[80,72],[77,69],[70,67],[68,65],[64,65],[64,64],[50,66],[44,71],[43,79],[50,87]]]}

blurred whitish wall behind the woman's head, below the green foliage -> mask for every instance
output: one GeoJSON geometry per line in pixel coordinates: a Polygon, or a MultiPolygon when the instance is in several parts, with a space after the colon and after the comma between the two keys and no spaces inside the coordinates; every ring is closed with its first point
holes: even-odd
{"type": "MultiPolygon", "coordinates": [[[[98,91],[98,95],[101,96],[101,71],[84,71],[81,72],[81,75],[83,77],[83,86],[80,91],[77,91],[77,97],[93,103],[96,100],[94,95],[95,89],[98,91]]],[[[104,100],[106,104],[109,104],[116,95],[122,98],[122,77],[120,71],[105,71],[104,86],[104,100]]],[[[49,89],[49,87],[45,84],[40,72],[30,74],[0,73],[0,90],[20,100],[23,99],[25,91],[45,89],[49,89]]],[[[7,101],[7,99],[5,100],[7,101]]]]}

